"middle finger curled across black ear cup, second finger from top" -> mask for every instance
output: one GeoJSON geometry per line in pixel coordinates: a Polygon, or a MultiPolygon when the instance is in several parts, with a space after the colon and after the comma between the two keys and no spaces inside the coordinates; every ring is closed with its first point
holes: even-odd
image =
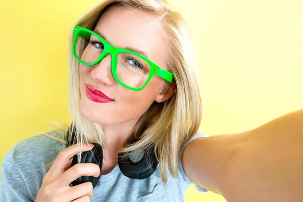
{"type": "Polygon", "coordinates": [[[98,177],[101,174],[100,167],[94,163],[79,163],[65,171],[60,178],[58,183],[61,185],[69,185],[80,176],[93,176],[98,177]]]}

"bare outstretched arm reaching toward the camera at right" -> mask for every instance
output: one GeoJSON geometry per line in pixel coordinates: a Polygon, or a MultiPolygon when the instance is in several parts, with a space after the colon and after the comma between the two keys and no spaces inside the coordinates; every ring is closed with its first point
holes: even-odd
{"type": "Polygon", "coordinates": [[[186,176],[229,202],[303,201],[303,110],[258,128],[190,142],[186,176]]]}

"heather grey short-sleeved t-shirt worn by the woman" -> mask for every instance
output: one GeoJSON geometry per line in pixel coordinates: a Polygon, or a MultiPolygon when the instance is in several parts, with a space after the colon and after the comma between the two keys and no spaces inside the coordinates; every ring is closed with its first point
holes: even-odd
{"type": "MultiPolygon", "coordinates": [[[[47,134],[61,139],[66,138],[56,130],[47,134]]],[[[198,131],[186,144],[196,138],[208,136],[198,131]]],[[[179,177],[174,179],[169,175],[168,183],[164,184],[158,166],[155,173],[148,178],[134,180],[124,176],[117,165],[109,174],[100,175],[98,184],[93,189],[91,201],[184,201],[187,187],[193,184],[186,177],[181,164],[181,154],[186,144],[179,154],[179,177]]],[[[64,143],[43,134],[17,142],[7,152],[1,164],[0,200],[35,201],[43,176],[48,171],[46,164],[55,160],[59,151],[64,148],[66,148],[64,143]]],[[[193,185],[199,192],[208,192],[207,189],[193,185]]]]}

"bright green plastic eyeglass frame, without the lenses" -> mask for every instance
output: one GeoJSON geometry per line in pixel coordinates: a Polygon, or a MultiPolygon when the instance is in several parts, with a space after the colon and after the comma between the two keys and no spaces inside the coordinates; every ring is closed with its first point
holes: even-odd
{"type": "MultiPolygon", "coordinates": [[[[118,48],[118,47],[115,47],[111,44],[109,44],[104,38],[102,38],[101,36],[99,36],[97,33],[93,32],[92,30],[90,29],[87,29],[87,28],[84,28],[84,27],[80,27],[80,26],[75,26],[74,27],[74,30],[73,30],[73,33],[74,33],[74,39],[73,39],[73,55],[74,57],[82,64],[84,65],[87,65],[87,66],[92,66],[92,65],[95,65],[97,63],[99,63],[100,61],[102,61],[106,56],[107,54],[111,54],[112,55],[112,63],[111,63],[111,69],[112,69],[112,73],[113,73],[113,76],[114,78],[116,79],[116,81],[130,89],[130,90],[134,90],[134,91],[140,91],[142,90],[147,84],[148,82],[150,81],[150,79],[154,76],[154,75],[157,75],[157,76],[160,76],[161,78],[165,79],[166,81],[172,83],[173,81],[175,81],[174,79],[174,76],[171,72],[165,70],[165,69],[162,69],[161,67],[159,67],[158,65],[156,65],[155,63],[151,62],[150,60],[148,60],[147,58],[145,58],[144,56],[141,56],[140,54],[136,53],[136,52],[133,52],[133,51],[129,51],[128,49],[124,49],[124,48],[118,48]],[[82,34],[81,31],[84,31],[82,33],[85,33],[82,34]],[[98,39],[100,39],[100,41],[103,42],[103,46],[104,46],[104,49],[103,49],[103,52],[102,54],[99,56],[99,58],[93,62],[93,63],[85,63],[83,61],[81,61],[81,59],[77,56],[76,54],[76,42],[77,42],[77,39],[78,39],[78,36],[80,35],[82,38],[86,39],[86,40],[90,40],[90,34],[93,34],[94,36],[96,36],[98,39]],[[80,34],[81,33],[81,34],[80,34]],[[144,60],[149,66],[150,66],[150,72],[149,72],[149,76],[147,78],[147,80],[145,81],[144,85],[142,85],[142,87],[140,88],[133,88],[133,87],[130,87],[126,84],[124,84],[117,76],[117,63],[118,63],[118,59],[117,59],[117,56],[118,54],[120,53],[129,53],[129,54],[133,54],[139,58],[141,58],[142,60],[144,60]]],[[[83,54],[83,53],[82,53],[83,54]]]]}

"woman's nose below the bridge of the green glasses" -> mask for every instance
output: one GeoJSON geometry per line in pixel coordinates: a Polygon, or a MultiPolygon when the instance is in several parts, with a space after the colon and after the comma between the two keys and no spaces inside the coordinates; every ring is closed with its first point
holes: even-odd
{"type": "Polygon", "coordinates": [[[102,59],[98,64],[94,65],[94,69],[91,70],[91,78],[95,82],[102,82],[108,86],[113,85],[115,78],[112,73],[112,55],[107,54],[107,56],[102,59]]]}

